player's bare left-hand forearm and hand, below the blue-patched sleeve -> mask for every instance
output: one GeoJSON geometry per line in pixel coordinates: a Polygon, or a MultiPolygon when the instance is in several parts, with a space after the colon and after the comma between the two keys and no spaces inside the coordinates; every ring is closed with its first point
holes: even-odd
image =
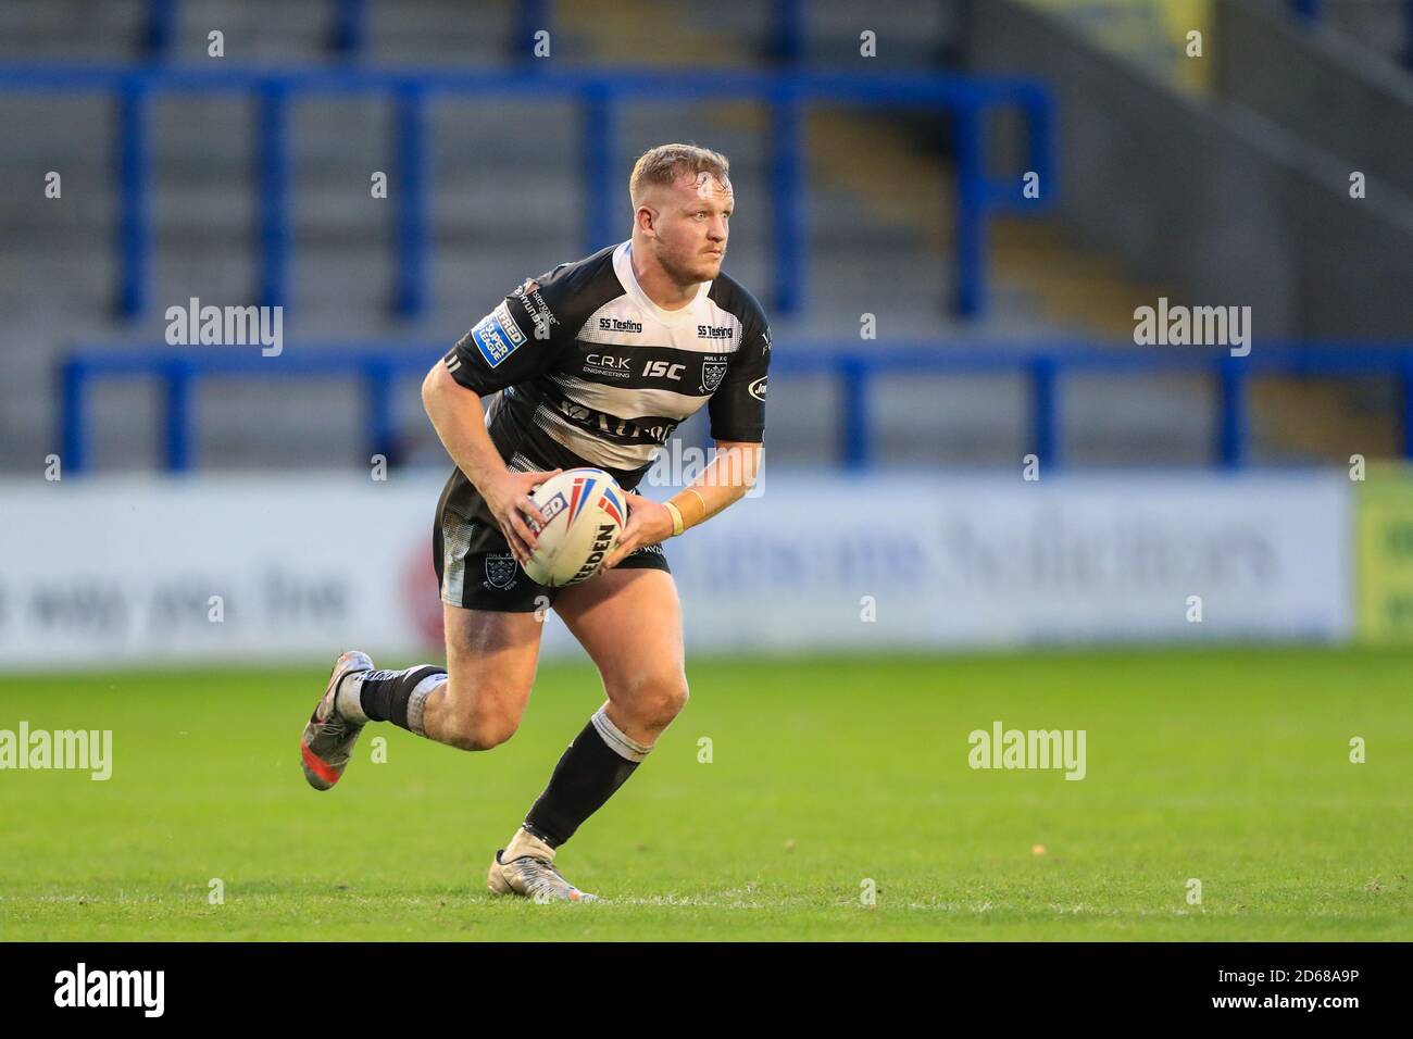
{"type": "Polygon", "coordinates": [[[486,499],[500,533],[510,543],[510,551],[520,561],[530,558],[536,534],[527,520],[533,519],[540,524],[545,522],[544,515],[530,500],[530,492],[558,469],[554,472],[507,469],[486,431],[480,396],[458,383],[447,369],[445,360],[432,365],[432,370],[422,380],[422,406],[447,454],[486,499]]]}

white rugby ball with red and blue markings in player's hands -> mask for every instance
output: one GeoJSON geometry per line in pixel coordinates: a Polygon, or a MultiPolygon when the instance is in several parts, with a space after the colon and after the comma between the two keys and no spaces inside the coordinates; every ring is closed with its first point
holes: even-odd
{"type": "Polygon", "coordinates": [[[530,500],[544,513],[531,522],[540,540],[521,567],[536,584],[567,588],[593,577],[623,536],[627,499],[603,469],[565,469],[537,486],[530,500]]]}

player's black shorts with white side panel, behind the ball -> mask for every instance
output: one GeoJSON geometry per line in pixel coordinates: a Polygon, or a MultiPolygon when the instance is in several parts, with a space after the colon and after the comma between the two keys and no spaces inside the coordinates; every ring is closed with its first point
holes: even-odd
{"type": "MultiPolygon", "coordinates": [[[[516,563],[500,527],[493,522],[466,519],[452,512],[447,507],[447,495],[437,505],[432,565],[437,568],[442,602],[466,609],[533,614],[552,605],[555,595],[564,591],[531,581],[516,563]]],[[[673,573],[660,544],[644,544],[615,568],[673,573]]]]}

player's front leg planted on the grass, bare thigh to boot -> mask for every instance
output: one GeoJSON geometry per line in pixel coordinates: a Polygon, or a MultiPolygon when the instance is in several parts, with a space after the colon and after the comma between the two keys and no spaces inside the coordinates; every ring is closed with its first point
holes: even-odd
{"type": "MultiPolygon", "coordinates": [[[[660,551],[629,558],[633,565],[625,560],[555,599],[555,611],[598,666],[608,703],[569,744],[524,826],[497,852],[492,891],[514,886],[509,865],[517,858],[528,861],[523,868],[530,872],[536,862],[552,864],[555,850],[633,775],[687,703],[677,587],[660,551]]],[[[578,896],[557,871],[540,879],[550,895],[578,896]]]]}

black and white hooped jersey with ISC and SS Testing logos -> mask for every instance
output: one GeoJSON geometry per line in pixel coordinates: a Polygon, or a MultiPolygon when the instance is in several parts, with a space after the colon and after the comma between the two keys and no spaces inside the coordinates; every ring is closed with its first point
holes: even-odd
{"type": "MultiPolygon", "coordinates": [[[[486,427],[510,469],[595,465],[632,489],[704,404],[715,440],[763,440],[760,304],[721,274],[687,307],[663,310],[637,284],[630,250],[623,242],[527,280],[447,353],[458,383],[495,394],[486,427]]],[[[459,469],[444,503],[483,510],[459,469]]]]}

